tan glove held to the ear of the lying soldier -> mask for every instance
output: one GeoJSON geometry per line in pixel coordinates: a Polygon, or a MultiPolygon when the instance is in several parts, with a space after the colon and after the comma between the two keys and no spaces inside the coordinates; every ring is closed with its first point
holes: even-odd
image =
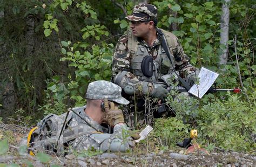
{"type": "Polygon", "coordinates": [[[114,106],[113,102],[104,99],[105,115],[103,116],[103,122],[114,127],[118,123],[124,123],[124,115],[122,110],[114,106]]]}

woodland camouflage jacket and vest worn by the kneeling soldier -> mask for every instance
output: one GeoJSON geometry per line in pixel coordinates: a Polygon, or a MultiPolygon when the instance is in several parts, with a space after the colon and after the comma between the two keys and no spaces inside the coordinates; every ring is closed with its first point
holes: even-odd
{"type": "MultiPolygon", "coordinates": [[[[171,32],[162,31],[169,46],[174,70],[187,80],[190,74],[194,73],[195,67],[189,63],[190,59],[184,53],[177,37],[171,32]]],[[[144,40],[134,37],[131,32],[120,37],[113,54],[113,82],[122,88],[131,85],[138,93],[143,81],[164,81],[167,85],[170,85],[170,78],[175,78],[174,81],[177,81],[172,64],[165,54],[159,38],[158,34],[158,38],[154,40],[153,46],[150,47],[144,40]],[[142,60],[147,55],[153,57],[154,66],[156,66],[151,78],[144,76],[140,69],[142,60]]]]}

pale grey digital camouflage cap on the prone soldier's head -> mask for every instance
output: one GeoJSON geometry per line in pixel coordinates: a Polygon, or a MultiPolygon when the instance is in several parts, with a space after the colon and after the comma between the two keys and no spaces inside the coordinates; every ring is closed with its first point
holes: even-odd
{"type": "Polygon", "coordinates": [[[122,88],[109,81],[94,81],[89,83],[86,92],[87,99],[112,100],[122,105],[128,105],[129,101],[122,97],[122,88]]]}

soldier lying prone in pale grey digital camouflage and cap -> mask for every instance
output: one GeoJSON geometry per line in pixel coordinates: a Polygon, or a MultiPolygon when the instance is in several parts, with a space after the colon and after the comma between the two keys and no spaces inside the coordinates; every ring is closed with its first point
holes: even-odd
{"type": "Polygon", "coordinates": [[[74,113],[68,116],[67,113],[46,116],[21,144],[28,144],[31,155],[45,150],[57,155],[65,155],[73,150],[130,150],[134,147],[134,139],[139,136],[129,136],[124,124],[124,116],[118,105],[127,105],[129,101],[122,97],[121,91],[118,85],[109,81],[91,82],[86,92],[86,106],[73,108],[74,113]],[[64,123],[66,126],[63,126],[64,123]],[[62,127],[63,133],[60,132],[62,127]],[[112,134],[110,128],[113,128],[112,134]]]}

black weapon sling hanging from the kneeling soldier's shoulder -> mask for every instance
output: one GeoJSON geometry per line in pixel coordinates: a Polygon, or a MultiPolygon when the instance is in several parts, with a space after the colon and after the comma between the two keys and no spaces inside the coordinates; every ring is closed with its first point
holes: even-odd
{"type": "Polygon", "coordinates": [[[160,35],[160,40],[161,40],[161,45],[164,47],[164,51],[167,55],[167,57],[169,58],[169,60],[171,61],[171,64],[172,64],[172,67],[173,67],[173,72],[178,76],[178,79],[180,80],[180,82],[183,84],[183,86],[187,89],[187,91],[191,88],[188,83],[182,79],[179,74],[177,74],[177,72],[175,71],[175,68],[174,68],[174,65],[173,65],[173,62],[171,60],[171,57],[170,57],[170,52],[169,52],[169,49],[167,48],[167,42],[166,42],[166,39],[164,37],[164,33],[160,30],[160,29],[157,29],[157,32],[159,33],[160,35]]]}

